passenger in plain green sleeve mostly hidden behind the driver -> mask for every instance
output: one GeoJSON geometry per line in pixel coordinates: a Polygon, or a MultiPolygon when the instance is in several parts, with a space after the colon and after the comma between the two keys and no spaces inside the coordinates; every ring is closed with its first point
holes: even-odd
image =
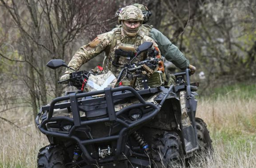
{"type": "MultiPolygon", "coordinates": [[[[151,11],[142,4],[133,4],[133,6],[138,7],[144,15],[141,31],[143,31],[147,36],[151,37],[158,44],[158,48],[160,49],[162,55],[164,55],[165,59],[169,62],[172,62],[176,67],[180,68],[181,70],[189,68],[191,70],[191,74],[194,74],[196,71],[196,67],[189,64],[189,61],[185,58],[184,54],[179,50],[179,48],[172,44],[172,42],[170,42],[169,39],[161,32],[153,28],[153,25],[145,24],[152,15],[151,11]]],[[[122,8],[117,10],[115,16],[118,17],[121,11],[122,8]]],[[[118,25],[118,27],[121,26],[118,25]]]]}

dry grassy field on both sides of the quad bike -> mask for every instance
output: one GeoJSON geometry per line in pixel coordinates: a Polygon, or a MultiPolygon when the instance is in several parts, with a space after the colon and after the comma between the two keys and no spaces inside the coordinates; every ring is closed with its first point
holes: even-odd
{"type": "MultiPolygon", "coordinates": [[[[190,167],[255,167],[256,165],[256,87],[232,86],[200,97],[197,117],[208,125],[214,156],[207,163],[190,167]]],[[[0,113],[19,126],[0,119],[0,167],[36,167],[37,152],[48,145],[47,138],[34,126],[31,111],[19,109],[0,113]]]]}

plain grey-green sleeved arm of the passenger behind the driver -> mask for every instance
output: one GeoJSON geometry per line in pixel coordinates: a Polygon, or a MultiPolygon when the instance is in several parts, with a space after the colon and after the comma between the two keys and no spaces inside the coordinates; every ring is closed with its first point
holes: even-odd
{"type": "Polygon", "coordinates": [[[158,48],[167,61],[172,62],[176,67],[182,70],[188,68],[189,61],[179,48],[172,44],[166,36],[154,28],[151,30],[150,35],[151,38],[157,42],[158,48]]]}

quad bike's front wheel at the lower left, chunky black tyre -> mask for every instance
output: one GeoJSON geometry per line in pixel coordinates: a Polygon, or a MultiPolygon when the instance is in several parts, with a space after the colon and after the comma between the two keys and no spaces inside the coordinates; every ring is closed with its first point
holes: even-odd
{"type": "Polygon", "coordinates": [[[71,162],[63,147],[48,145],[39,150],[37,168],[63,168],[71,162]]]}

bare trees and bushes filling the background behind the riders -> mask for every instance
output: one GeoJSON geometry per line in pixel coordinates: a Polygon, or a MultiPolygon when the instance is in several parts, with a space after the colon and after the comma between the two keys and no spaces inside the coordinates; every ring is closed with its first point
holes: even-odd
{"type": "MultiPolygon", "coordinates": [[[[10,94],[1,96],[0,102],[6,108],[16,97],[29,102],[27,105],[36,115],[49,98],[63,94],[67,88],[58,85],[57,80],[65,69],[50,70],[46,63],[51,59],[68,62],[81,45],[115,27],[118,8],[133,3],[146,5],[153,13],[148,24],[177,45],[199,72],[205,72],[204,92],[216,83],[244,81],[256,74],[253,0],[0,3],[0,94],[10,94]]],[[[103,55],[86,66],[93,68],[102,58],[103,55]]]]}

